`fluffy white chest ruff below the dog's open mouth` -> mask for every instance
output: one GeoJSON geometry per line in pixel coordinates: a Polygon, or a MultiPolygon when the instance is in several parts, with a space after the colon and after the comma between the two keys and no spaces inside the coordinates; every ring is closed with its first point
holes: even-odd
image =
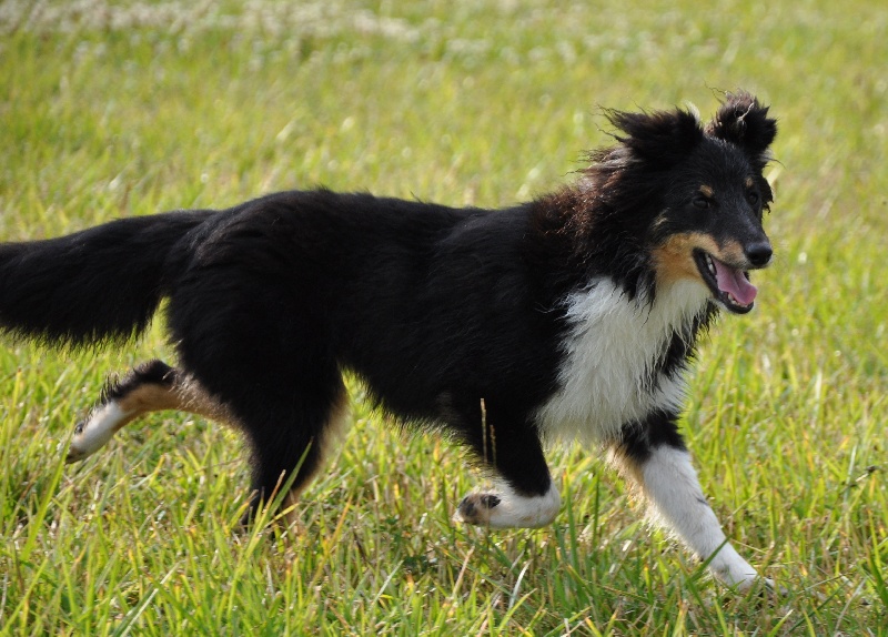
{"type": "Polygon", "coordinates": [[[630,299],[609,277],[569,294],[559,388],[537,413],[541,432],[597,444],[653,410],[680,410],[685,357],[677,368],[664,361],[675,338],[690,351],[708,303],[708,290],[692,281],[659,286],[653,300],[630,299]]]}

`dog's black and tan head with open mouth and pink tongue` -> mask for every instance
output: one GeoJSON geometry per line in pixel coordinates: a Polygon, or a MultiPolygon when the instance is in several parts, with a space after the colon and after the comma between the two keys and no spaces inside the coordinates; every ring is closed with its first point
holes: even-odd
{"type": "Polygon", "coordinates": [[[749,271],[771,260],[761,218],[773,193],[763,171],[777,124],[767,107],[736,93],[705,125],[684,110],[608,117],[619,145],[596,159],[622,165],[609,174],[622,196],[647,199],[634,234],[656,283],[694,280],[728,311],[751,310],[749,271]]]}

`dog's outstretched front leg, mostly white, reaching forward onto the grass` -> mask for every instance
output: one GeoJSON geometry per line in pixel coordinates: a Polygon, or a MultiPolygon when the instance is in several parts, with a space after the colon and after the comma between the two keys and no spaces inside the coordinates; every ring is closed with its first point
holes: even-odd
{"type": "MultiPolygon", "coordinates": [[[[703,494],[675,419],[667,416],[642,427],[636,424],[624,434],[614,459],[624,475],[638,484],[653,517],[695,555],[708,559],[716,578],[739,590],[749,589],[759,575],[727,542],[703,494]]],[[[773,586],[769,580],[765,583],[773,586]]]]}

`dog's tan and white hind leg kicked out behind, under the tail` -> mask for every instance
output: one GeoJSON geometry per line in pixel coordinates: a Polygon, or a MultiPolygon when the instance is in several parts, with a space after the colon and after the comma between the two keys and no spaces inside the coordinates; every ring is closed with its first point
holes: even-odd
{"type": "Polygon", "coordinates": [[[149,412],[162,410],[229,419],[224,406],[198,383],[162,361],[151,361],[133,368],[122,380],[108,383],[99,404],[74,427],[65,462],[79,462],[91,456],[127,424],[149,412]]]}

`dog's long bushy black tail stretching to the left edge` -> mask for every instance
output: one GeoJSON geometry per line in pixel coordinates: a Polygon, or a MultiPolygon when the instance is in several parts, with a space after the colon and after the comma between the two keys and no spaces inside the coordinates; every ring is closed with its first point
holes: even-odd
{"type": "Polygon", "coordinates": [[[137,336],[167,293],[167,264],[210,214],[120,219],[58,239],[0,244],[0,332],[71,347],[137,336]]]}

